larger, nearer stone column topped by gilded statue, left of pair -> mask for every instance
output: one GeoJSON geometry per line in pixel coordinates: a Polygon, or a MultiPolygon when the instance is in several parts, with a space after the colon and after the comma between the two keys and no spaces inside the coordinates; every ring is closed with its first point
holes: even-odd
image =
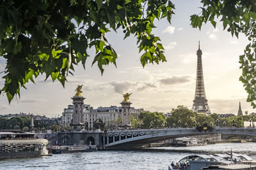
{"type": "Polygon", "coordinates": [[[83,106],[84,106],[84,97],[81,95],[83,85],[78,85],[76,89],[76,95],[72,97],[73,99],[73,114],[70,127],[72,130],[81,131],[84,130],[84,123],[83,123],[83,106]]]}

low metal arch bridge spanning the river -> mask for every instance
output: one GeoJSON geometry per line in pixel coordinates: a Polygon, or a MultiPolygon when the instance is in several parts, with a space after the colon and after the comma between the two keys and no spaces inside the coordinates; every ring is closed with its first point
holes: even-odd
{"type": "Polygon", "coordinates": [[[214,127],[206,131],[193,128],[165,128],[165,129],[137,129],[125,131],[106,131],[103,135],[104,148],[118,148],[141,146],[147,143],[164,141],[166,139],[181,138],[202,134],[225,134],[234,136],[256,136],[253,127],[214,127]]]}

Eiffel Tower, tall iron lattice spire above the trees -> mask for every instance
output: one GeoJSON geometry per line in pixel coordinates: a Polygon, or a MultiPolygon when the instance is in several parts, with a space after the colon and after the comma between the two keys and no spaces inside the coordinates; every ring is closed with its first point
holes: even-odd
{"type": "Polygon", "coordinates": [[[200,41],[198,42],[197,55],[197,68],[196,68],[196,92],[195,99],[193,100],[192,111],[204,112],[211,114],[204,90],[204,74],[202,66],[202,50],[200,50],[200,41]]]}

